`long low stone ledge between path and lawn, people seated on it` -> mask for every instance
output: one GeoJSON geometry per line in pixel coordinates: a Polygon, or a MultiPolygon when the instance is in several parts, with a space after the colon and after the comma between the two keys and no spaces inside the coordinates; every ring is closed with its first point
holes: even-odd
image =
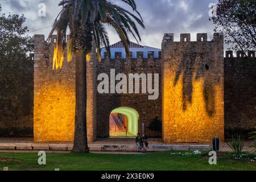
{"type": "MultiPolygon", "coordinates": [[[[0,150],[60,150],[71,151],[72,143],[0,143],[0,150]]],[[[135,144],[89,144],[91,151],[137,151],[135,144]]],[[[159,145],[150,144],[147,151],[210,150],[210,145],[159,145]]]]}

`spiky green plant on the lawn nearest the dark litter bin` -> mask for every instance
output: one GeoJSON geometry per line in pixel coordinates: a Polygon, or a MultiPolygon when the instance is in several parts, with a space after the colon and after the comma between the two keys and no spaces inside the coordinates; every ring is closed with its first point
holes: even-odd
{"type": "Polygon", "coordinates": [[[242,154],[243,147],[245,146],[245,141],[240,135],[232,135],[232,138],[228,145],[233,150],[236,159],[238,159],[239,156],[241,156],[242,154]]]}

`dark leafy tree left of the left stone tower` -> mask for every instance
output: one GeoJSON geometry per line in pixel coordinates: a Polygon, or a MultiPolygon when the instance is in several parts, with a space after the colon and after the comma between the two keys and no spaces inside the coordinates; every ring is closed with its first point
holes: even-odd
{"type": "MultiPolygon", "coordinates": [[[[1,11],[1,6],[0,6],[1,11]]],[[[24,99],[33,88],[34,64],[26,54],[33,51],[24,15],[0,12],[0,115],[17,117],[24,113],[24,99]],[[26,92],[27,91],[27,92],[26,92]],[[25,96],[25,97],[24,97],[25,96]]],[[[32,105],[32,103],[30,103],[32,105]]],[[[32,107],[32,106],[31,106],[32,107]]],[[[28,112],[28,115],[30,112],[28,112]]]]}

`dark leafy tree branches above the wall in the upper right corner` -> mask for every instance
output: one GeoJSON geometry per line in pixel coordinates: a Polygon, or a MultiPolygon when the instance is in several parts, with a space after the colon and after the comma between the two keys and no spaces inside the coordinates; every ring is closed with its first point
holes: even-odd
{"type": "Polygon", "coordinates": [[[219,0],[216,16],[210,18],[226,36],[225,43],[232,49],[245,52],[256,48],[255,0],[219,0]]]}

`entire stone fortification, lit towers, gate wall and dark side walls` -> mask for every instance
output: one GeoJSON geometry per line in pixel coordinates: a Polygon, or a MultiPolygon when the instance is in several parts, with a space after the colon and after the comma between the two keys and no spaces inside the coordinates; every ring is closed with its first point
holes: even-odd
{"type": "MultiPolygon", "coordinates": [[[[166,142],[204,142],[212,137],[246,134],[256,126],[255,51],[244,57],[223,53],[223,37],[198,34],[191,42],[189,34],[181,34],[174,42],[173,34],[164,35],[162,60],[102,60],[88,63],[88,138],[109,136],[109,114],[119,106],[130,106],[139,113],[141,123],[149,125],[152,118],[163,118],[163,139],[166,142]],[[186,40],[186,41],[185,41],[186,40]],[[158,100],[149,101],[148,94],[98,94],[97,76],[116,74],[160,73],[158,100]],[[225,125],[224,125],[225,121],[225,125]]],[[[55,36],[46,43],[43,35],[35,35],[34,90],[27,89],[26,100],[34,99],[34,137],[36,141],[72,141],[75,122],[75,61],[64,60],[62,69],[52,70],[55,36]],[[34,98],[31,97],[35,92],[34,98]],[[30,96],[31,95],[31,96],[30,96]]],[[[75,57],[74,59],[75,60],[75,57]]],[[[30,81],[28,81],[30,82],[30,81]]],[[[32,80],[30,84],[33,84],[32,80]]],[[[1,103],[1,108],[8,105],[1,103]]],[[[31,107],[32,108],[32,107],[31,107]]],[[[16,113],[17,119],[0,117],[0,136],[33,135],[31,111],[16,113]],[[21,117],[19,117],[19,115],[21,117]],[[17,130],[20,129],[20,130],[17,130]],[[30,130],[27,130],[30,129],[30,130]],[[6,133],[8,131],[8,133],[6,133]],[[17,133],[17,132],[16,132],[17,133]]],[[[154,132],[146,130],[150,137],[154,132]]]]}

